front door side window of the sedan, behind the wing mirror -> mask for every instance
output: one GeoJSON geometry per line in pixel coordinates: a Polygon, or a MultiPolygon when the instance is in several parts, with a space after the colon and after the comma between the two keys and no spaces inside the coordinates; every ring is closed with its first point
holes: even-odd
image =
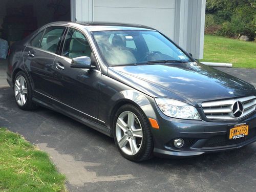
{"type": "Polygon", "coordinates": [[[61,55],[69,58],[91,57],[92,50],[87,38],[76,29],[69,29],[66,35],[61,55]]]}

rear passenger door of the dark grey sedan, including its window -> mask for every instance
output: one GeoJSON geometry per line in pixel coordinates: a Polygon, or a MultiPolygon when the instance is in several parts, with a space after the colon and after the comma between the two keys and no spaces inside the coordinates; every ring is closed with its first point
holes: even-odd
{"type": "Polygon", "coordinates": [[[65,26],[52,26],[40,31],[32,38],[23,53],[25,68],[37,94],[54,94],[52,67],[65,31],[65,26]]]}

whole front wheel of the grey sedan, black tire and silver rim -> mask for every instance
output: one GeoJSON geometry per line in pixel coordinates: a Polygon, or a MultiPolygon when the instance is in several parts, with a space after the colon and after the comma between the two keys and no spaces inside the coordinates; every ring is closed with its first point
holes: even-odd
{"type": "Polygon", "coordinates": [[[138,106],[121,106],[114,122],[115,143],[123,157],[132,161],[143,161],[152,157],[153,139],[150,125],[138,106]]]}

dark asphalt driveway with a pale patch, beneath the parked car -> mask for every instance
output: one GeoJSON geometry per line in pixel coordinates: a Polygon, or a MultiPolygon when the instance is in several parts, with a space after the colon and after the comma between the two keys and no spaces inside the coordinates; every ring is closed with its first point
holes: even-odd
{"type": "MultiPolygon", "coordinates": [[[[256,85],[256,70],[220,70],[256,85]]],[[[90,127],[45,108],[19,110],[10,88],[0,89],[0,126],[48,152],[67,176],[69,191],[255,191],[256,143],[190,159],[134,163],[90,127]]]]}

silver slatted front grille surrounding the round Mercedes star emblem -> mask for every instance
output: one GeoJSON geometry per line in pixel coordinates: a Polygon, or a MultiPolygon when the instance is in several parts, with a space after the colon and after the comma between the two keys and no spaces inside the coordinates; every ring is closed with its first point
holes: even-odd
{"type": "Polygon", "coordinates": [[[256,97],[248,96],[237,99],[203,102],[202,107],[207,119],[236,120],[255,112],[256,97]],[[234,117],[232,112],[233,104],[237,101],[240,101],[244,108],[243,114],[239,118],[234,117]]]}

